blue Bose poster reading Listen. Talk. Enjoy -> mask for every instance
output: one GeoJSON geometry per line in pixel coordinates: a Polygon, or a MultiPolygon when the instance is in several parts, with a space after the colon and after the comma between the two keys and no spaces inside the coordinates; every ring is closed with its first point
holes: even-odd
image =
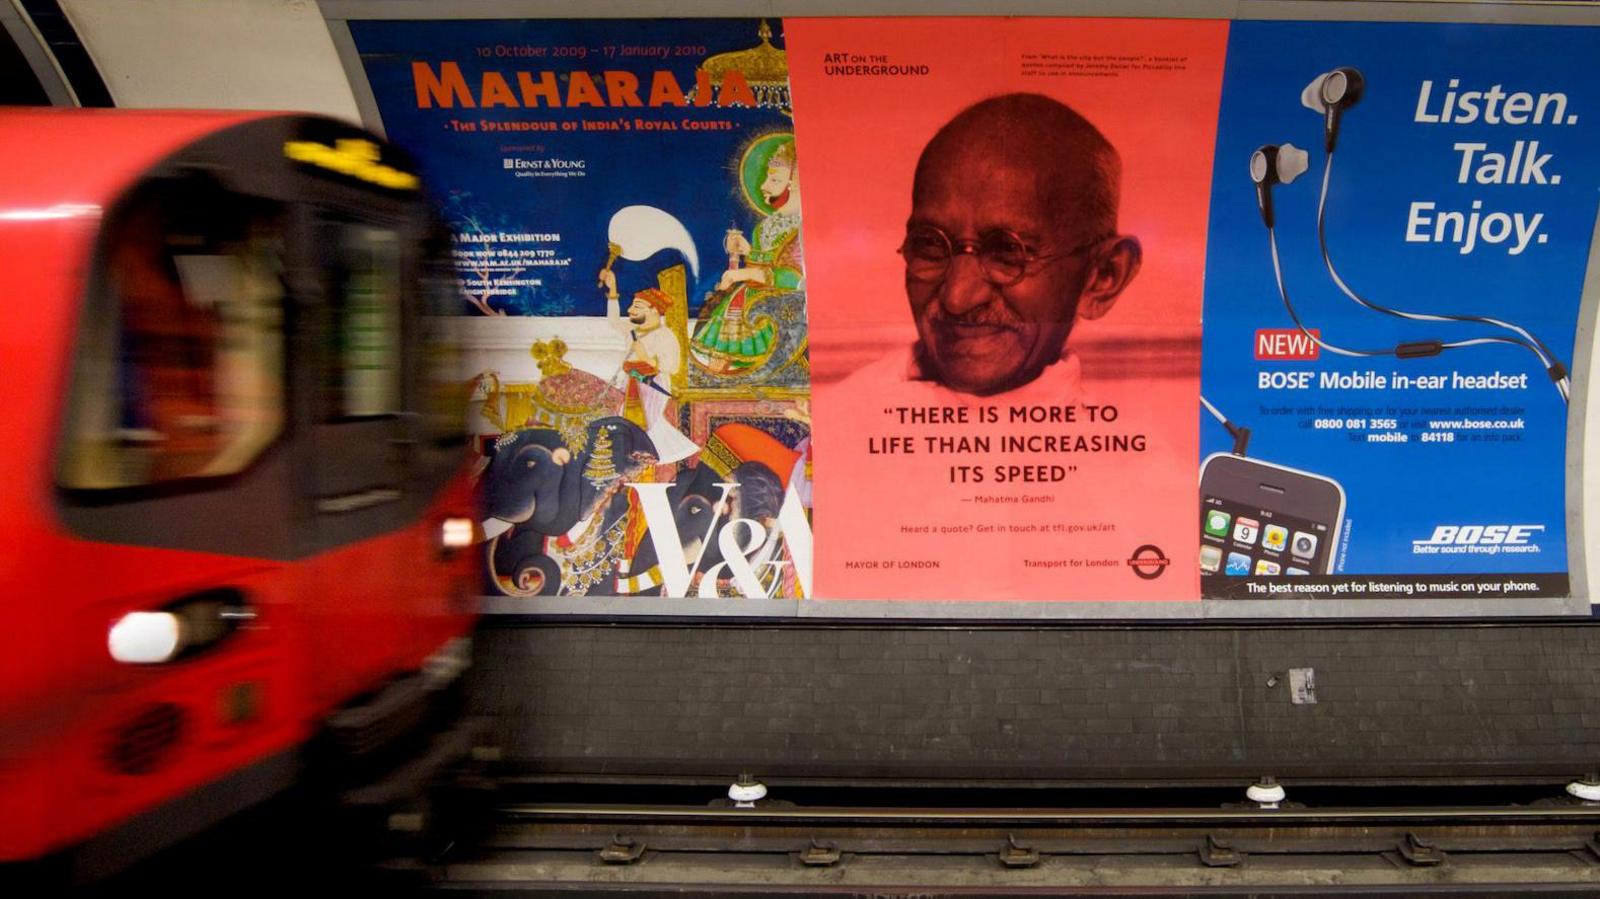
{"type": "Polygon", "coordinates": [[[1234,22],[1205,277],[1200,390],[1221,413],[1202,418],[1205,595],[1568,592],[1594,51],[1592,29],[1234,22]],[[1222,418],[1250,429],[1243,456],[1222,418]]]}

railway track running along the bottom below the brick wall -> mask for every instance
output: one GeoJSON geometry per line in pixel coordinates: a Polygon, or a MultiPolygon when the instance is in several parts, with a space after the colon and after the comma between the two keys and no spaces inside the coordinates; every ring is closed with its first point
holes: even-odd
{"type": "Polygon", "coordinates": [[[494,896],[1594,894],[1600,805],[714,808],[533,790],[410,873],[494,896]]]}

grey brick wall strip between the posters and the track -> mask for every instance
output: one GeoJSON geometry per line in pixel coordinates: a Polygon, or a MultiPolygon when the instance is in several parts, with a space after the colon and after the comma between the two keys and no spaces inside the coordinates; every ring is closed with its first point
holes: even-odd
{"type": "Polygon", "coordinates": [[[1597,635],[501,619],[472,686],[509,758],[544,771],[1573,776],[1600,768],[1597,635]],[[1315,670],[1314,705],[1291,702],[1288,669],[1315,670]]]}

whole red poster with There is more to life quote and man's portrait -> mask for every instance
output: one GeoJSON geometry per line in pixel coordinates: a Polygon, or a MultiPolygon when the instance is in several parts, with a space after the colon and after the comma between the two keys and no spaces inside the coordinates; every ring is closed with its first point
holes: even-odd
{"type": "Polygon", "coordinates": [[[1227,27],[786,21],[818,598],[1198,598],[1227,27]]]}

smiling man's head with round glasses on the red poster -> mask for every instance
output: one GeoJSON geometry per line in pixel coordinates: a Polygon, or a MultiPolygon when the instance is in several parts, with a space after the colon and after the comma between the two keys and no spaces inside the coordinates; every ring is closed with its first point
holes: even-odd
{"type": "Polygon", "coordinates": [[[917,378],[990,397],[1062,360],[1139,272],[1118,234],[1122,160],[1069,106],[1003,94],[966,107],[917,160],[906,298],[917,378]]]}

